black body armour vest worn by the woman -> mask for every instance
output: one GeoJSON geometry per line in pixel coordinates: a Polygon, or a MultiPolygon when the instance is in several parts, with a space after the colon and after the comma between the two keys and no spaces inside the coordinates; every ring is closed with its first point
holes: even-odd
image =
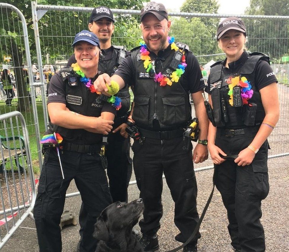
{"type": "Polygon", "coordinates": [[[248,82],[251,83],[253,96],[248,100],[248,103],[255,103],[257,105],[254,125],[259,125],[263,121],[265,117],[265,111],[262,105],[260,92],[256,89],[255,86],[256,66],[259,60],[266,60],[267,62],[269,62],[269,57],[261,53],[249,54],[248,59],[239,69],[238,73],[229,75],[224,74],[223,61],[219,61],[211,67],[210,91],[214,109],[214,119],[217,127],[224,127],[227,129],[245,127],[244,118],[249,105],[245,104],[242,107],[233,107],[229,103],[229,84],[227,83],[227,80],[230,77],[234,78],[236,76],[246,77],[248,82]],[[228,122],[224,122],[224,113],[221,108],[222,106],[224,106],[224,103],[222,104],[221,101],[222,99],[225,102],[225,107],[227,109],[226,114],[228,122]]]}

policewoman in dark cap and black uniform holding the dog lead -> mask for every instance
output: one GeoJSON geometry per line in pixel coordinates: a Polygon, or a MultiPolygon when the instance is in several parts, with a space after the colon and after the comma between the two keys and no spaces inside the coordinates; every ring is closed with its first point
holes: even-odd
{"type": "Polygon", "coordinates": [[[242,20],[223,20],[217,39],[226,59],[211,66],[207,87],[216,125],[210,123],[208,135],[214,182],[227,209],[234,251],[261,252],[261,200],[269,192],[267,137],[279,118],[277,79],[269,57],[244,50],[242,20]]]}

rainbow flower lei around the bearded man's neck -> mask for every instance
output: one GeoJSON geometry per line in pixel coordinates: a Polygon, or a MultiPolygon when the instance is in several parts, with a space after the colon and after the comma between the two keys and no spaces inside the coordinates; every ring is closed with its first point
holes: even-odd
{"type": "MultiPolygon", "coordinates": [[[[175,41],[174,37],[168,37],[168,43],[171,45],[171,50],[181,51],[179,47],[176,46],[174,41],[175,41]]],[[[154,61],[151,60],[149,56],[150,52],[147,50],[147,45],[145,44],[144,41],[139,42],[139,44],[141,46],[139,52],[141,53],[141,59],[144,60],[144,67],[145,69],[147,69],[146,72],[148,73],[151,69],[155,70],[154,61]]],[[[171,86],[173,82],[179,81],[179,78],[185,72],[186,66],[187,66],[186,58],[185,58],[185,55],[183,55],[182,63],[178,65],[178,68],[176,69],[176,71],[172,72],[170,76],[171,79],[169,79],[166,76],[163,76],[163,74],[159,72],[158,74],[155,73],[154,81],[160,83],[160,86],[163,86],[163,87],[166,85],[171,86]]]]}

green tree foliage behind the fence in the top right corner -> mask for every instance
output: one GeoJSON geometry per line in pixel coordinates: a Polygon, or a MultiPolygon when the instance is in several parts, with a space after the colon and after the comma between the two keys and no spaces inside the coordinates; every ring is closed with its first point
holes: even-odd
{"type": "MultiPolygon", "coordinates": [[[[289,0],[251,0],[245,14],[288,16],[289,0]]],[[[247,47],[250,51],[263,52],[277,59],[282,55],[288,55],[288,20],[244,19],[244,23],[247,27],[247,47]]]]}

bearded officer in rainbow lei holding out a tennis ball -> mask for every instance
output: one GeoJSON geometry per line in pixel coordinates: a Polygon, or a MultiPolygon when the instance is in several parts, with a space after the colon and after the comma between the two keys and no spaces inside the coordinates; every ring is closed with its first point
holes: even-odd
{"type": "MultiPolygon", "coordinates": [[[[142,136],[134,141],[133,162],[145,205],[144,218],[139,222],[140,242],[145,251],[155,251],[159,247],[157,231],[163,213],[163,173],[175,202],[174,221],[180,230],[175,238],[184,243],[190,237],[199,221],[193,160],[198,163],[208,158],[208,118],[202,97],[205,85],[200,66],[186,45],[180,45],[179,50],[173,39],[168,40],[170,27],[171,21],[163,4],[148,3],[141,11],[145,44],[134,48],[111,77],[120,87],[134,83],[134,109],[129,121],[130,124],[135,122],[142,136]],[[181,62],[182,66],[179,66],[181,62]],[[200,124],[199,143],[194,154],[191,141],[188,148],[184,148],[183,139],[184,127],[191,119],[189,92],[200,124]]],[[[94,87],[106,91],[105,83],[110,83],[110,77],[100,75],[94,87]]],[[[199,237],[198,233],[183,251],[197,251],[199,237]]]]}

